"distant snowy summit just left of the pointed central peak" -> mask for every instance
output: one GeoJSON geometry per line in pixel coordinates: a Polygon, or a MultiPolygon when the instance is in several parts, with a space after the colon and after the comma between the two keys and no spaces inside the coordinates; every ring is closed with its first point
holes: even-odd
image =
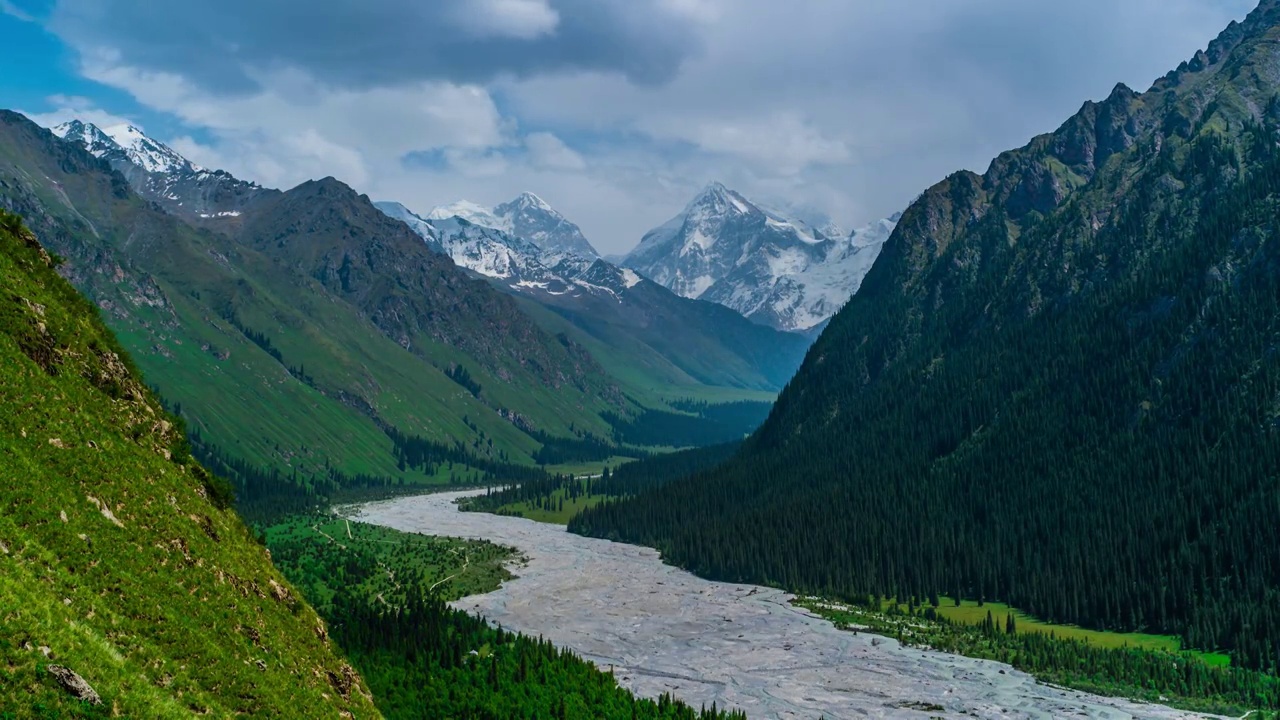
{"type": "Polygon", "coordinates": [[[474,225],[502,231],[531,242],[550,258],[577,255],[594,260],[600,256],[577,225],[532,192],[524,192],[520,197],[492,210],[461,200],[435,208],[426,215],[428,220],[452,218],[462,218],[474,225]]]}

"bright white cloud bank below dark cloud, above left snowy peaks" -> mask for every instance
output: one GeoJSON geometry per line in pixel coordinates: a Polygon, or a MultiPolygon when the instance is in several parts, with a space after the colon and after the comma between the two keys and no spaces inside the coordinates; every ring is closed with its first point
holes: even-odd
{"type": "Polygon", "coordinates": [[[261,91],[218,97],[173,73],[122,65],[110,53],[86,58],[83,73],[210,133],[211,143],[178,143],[200,158],[192,160],[269,186],[324,176],[366,186],[410,152],[483,152],[513,142],[509,122],[476,86],[332,90],[276,70],[257,74],[261,91]]]}

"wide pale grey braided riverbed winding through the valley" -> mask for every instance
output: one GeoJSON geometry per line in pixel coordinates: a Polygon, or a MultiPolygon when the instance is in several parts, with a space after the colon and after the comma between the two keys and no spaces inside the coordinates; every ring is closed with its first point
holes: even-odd
{"type": "Polygon", "coordinates": [[[650,548],[558,525],[460,512],[463,495],[402,497],[349,514],[398,530],[517,548],[527,562],[512,568],[515,580],[454,605],[612,667],[640,696],[669,692],[694,707],[714,702],[753,719],[1203,717],[837,630],[792,607],[785,592],[704,580],[664,565],[650,548]]]}

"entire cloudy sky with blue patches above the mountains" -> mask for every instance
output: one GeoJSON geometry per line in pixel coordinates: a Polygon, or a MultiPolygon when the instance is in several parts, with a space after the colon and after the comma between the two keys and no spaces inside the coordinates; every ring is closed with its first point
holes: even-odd
{"type": "Polygon", "coordinates": [[[846,228],[1146,90],[1256,0],[0,0],[0,106],[602,252],[707,183],[846,228]]]}

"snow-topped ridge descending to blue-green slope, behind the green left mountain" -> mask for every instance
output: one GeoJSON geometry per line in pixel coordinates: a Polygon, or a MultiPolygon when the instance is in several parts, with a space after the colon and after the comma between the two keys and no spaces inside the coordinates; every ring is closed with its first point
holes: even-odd
{"type": "Polygon", "coordinates": [[[376,206],[460,266],[521,299],[544,329],[580,342],[632,396],[682,396],[701,392],[703,386],[777,391],[809,346],[801,336],[680,297],[635,270],[594,256],[544,251],[494,229],[492,218],[471,205],[436,209],[428,218],[398,202],[376,206]],[[465,215],[443,217],[453,210],[465,215]]]}

